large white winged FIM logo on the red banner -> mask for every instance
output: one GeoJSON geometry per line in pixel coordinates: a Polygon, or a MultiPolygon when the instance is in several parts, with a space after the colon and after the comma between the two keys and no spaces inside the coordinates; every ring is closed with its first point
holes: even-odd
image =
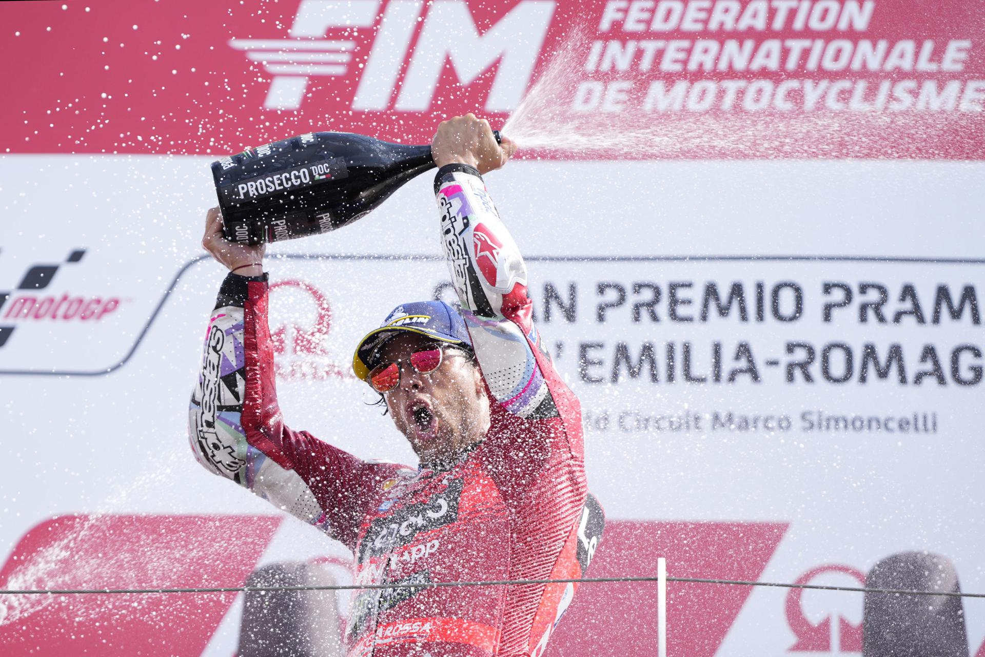
{"type": "Polygon", "coordinates": [[[485,109],[509,112],[530,84],[554,11],[550,0],[520,0],[480,34],[465,0],[301,0],[289,38],[229,43],[273,76],[268,109],[298,109],[308,81],[324,76],[339,79],[337,91],[356,88],[349,109],[426,111],[447,61],[462,85],[496,66],[485,109]],[[360,63],[356,51],[368,51],[360,63]]]}

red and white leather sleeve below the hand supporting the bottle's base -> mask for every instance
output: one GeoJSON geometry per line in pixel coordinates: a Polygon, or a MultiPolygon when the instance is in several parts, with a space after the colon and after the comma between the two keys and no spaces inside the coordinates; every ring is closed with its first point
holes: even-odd
{"type": "MultiPolygon", "coordinates": [[[[241,464],[230,478],[354,549],[362,516],[382,492],[383,482],[406,468],[363,461],[287,426],[277,401],[267,311],[266,275],[227,277],[213,318],[213,328],[227,336],[225,360],[203,372],[204,379],[220,380],[200,383],[197,394],[201,398],[201,390],[213,389],[226,393],[218,418],[225,423],[224,434],[231,434],[237,443],[233,449],[238,459],[229,460],[241,464]]],[[[201,404],[196,405],[194,396],[192,401],[193,419],[207,415],[196,413],[201,404]]],[[[211,415],[198,424],[205,421],[216,424],[211,415]]],[[[193,432],[195,424],[193,420],[193,432]]],[[[200,452],[208,449],[204,444],[200,452]]],[[[209,462],[198,455],[200,461],[209,462]]]]}

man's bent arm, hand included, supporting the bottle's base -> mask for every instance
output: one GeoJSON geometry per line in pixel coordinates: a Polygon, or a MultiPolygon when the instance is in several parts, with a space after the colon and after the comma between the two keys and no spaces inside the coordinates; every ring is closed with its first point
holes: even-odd
{"type": "Polygon", "coordinates": [[[223,282],[206,333],[188,413],[192,451],[210,472],[352,549],[363,507],[400,467],[361,461],[284,424],[267,324],[263,247],[230,244],[220,222],[218,210],[211,210],[203,244],[235,272],[223,282]]]}

